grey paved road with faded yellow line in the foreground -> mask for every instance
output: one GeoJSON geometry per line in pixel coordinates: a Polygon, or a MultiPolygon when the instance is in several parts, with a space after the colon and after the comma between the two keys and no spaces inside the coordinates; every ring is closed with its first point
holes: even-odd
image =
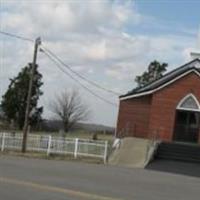
{"type": "Polygon", "coordinates": [[[199,200],[200,178],[0,156],[2,200],[199,200]]]}

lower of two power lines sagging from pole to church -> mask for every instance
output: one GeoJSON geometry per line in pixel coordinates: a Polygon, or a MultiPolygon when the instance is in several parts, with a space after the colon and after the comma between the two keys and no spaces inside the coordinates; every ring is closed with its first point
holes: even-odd
{"type": "Polygon", "coordinates": [[[71,79],[73,79],[75,82],[77,82],[81,87],[83,87],[85,90],[87,90],[89,93],[91,93],[93,96],[101,99],[102,101],[117,107],[117,104],[108,101],[107,99],[104,99],[103,97],[99,96],[98,94],[96,94],[95,92],[93,92],[91,89],[89,89],[88,87],[86,87],[85,85],[83,85],[78,79],[74,78],[69,72],[67,72],[66,70],[64,70],[61,67],[61,64],[58,63],[58,61],[55,60],[55,58],[53,58],[51,55],[49,55],[48,52],[45,51],[45,49],[41,49],[43,51],[43,53],[63,72],[65,73],[67,76],[69,76],[71,79]]]}

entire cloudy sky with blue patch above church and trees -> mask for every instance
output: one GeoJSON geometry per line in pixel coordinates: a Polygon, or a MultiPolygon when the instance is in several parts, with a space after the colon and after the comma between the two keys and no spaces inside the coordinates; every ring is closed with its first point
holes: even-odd
{"type": "MultiPolygon", "coordinates": [[[[0,30],[42,39],[77,73],[124,94],[135,76],[153,60],[172,70],[200,52],[200,1],[197,0],[0,0],[0,30]]],[[[0,34],[0,97],[9,78],[32,61],[33,44],[0,34]]],[[[76,89],[91,110],[88,122],[115,126],[118,106],[91,95],[60,71],[42,52],[44,118],[53,118],[49,104],[65,90],[76,89]]],[[[117,104],[117,95],[83,84],[117,104]]]]}

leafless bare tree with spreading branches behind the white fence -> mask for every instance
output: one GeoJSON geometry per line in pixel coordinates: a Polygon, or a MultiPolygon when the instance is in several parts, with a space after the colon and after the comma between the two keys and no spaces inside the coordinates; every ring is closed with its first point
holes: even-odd
{"type": "Polygon", "coordinates": [[[77,122],[87,120],[90,114],[78,90],[66,90],[50,103],[50,110],[62,121],[65,132],[77,122]]]}

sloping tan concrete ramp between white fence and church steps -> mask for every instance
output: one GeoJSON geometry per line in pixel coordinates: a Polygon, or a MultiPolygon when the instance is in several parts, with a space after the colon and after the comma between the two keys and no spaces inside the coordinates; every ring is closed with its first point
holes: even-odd
{"type": "Polygon", "coordinates": [[[124,138],[120,147],[110,156],[108,163],[125,167],[144,168],[148,160],[149,140],[141,138],[124,138]]]}

